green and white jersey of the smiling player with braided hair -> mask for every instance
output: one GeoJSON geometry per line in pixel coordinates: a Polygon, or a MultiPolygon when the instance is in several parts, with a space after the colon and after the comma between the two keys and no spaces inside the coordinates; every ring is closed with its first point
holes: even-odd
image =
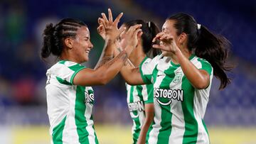
{"type": "Polygon", "coordinates": [[[51,143],[98,143],[92,118],[92,87],[73,84],[75,74],[84,68],[76,62],[62,60],[46,72],[51,143]]]}

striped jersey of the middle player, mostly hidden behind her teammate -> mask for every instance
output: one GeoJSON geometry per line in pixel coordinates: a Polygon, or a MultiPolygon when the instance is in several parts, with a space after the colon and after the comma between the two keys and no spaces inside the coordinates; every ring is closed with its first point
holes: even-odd
{"type": "MultiPolygon", "coordinates": [[[[142,61],[142,65],[148,63],[151,59],[145,57],[142,61]]],[[[145,118],[145,106],[144,104],[153,103],[153,84],[144,84],[131,86],[126,84],[127,87],[127,104],[129,108],[129,113],[132,117],[132,137],[133,143],[136,144],[139,139],[139,133],[144,123],[145,118]]],[[[150,130],[151,128],[149,128],[150,130]]]]}

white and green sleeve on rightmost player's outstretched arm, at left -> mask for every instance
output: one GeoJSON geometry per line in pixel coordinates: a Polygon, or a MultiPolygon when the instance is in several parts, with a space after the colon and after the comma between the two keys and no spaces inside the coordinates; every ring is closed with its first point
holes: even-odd
{"type": "Polygon", "coordinates": [[[157,65],[157,62],[158,56],[156,56],[153,60],[151,60],[150,58],[144,59],[144,61],[139,66],[139,72],[141,73],[142,79],[145,84],[152,84],[152,73],[157,65]]]}

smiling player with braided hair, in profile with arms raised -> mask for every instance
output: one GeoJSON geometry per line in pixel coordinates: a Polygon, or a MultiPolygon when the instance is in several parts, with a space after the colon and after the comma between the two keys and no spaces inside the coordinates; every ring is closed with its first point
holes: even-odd
{"type": "MultiPolygon", "coordinates": [[[[46,94],[50,134],[52,143],[98,143],[92,118],[94,104],[93,85],[106,84],[121,70],[127,57],[137,45],[140,25],[132,26],[124,39],[127,45],[113,58],[114,40],[124,29],[117,28],[122,13],[112,20],[105,18],[105,48],[95,70],[80,63],[89,60],[93,45],[90,31],[81,21],[65,18],[53,26],[50,23],[43,32],[41,57],[50,54],[58,57],[58,62],[47,70],[46,94]]],[[[122,46],[122,45],[121,45],[122,46]]]]}

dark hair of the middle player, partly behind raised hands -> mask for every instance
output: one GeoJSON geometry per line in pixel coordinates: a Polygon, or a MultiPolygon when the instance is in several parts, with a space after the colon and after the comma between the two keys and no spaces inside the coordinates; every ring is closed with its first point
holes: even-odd
{"type": "Polygon", "coordinates": [[[153,57],[155,57],[160,53],[160,50],[152,47],[152,40],[156,36],[156,34],[160,32],[159,28],[156,26],[155,23],[151,21],[146,23],[145,21],[140,19],[128,21],[124,23],[124,26],[128,29],[129,27],[137,24],[142,24],[142,48],[144,53],[146,53],[147,55],[152,53],[153,57]]]}

